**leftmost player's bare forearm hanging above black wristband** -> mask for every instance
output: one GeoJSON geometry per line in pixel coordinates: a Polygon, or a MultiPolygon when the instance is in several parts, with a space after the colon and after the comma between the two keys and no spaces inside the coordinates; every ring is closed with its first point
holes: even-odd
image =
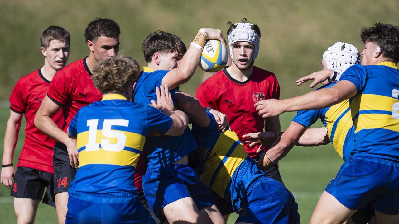
{"type": "Polygon", "coordinates": [[[20,131],[21,123],[8,120],[6,133],[4,134],[4,150],[3,150],[3,164],[12,163],[14,156],[15,145],[18,141],[18,132],[20,131]]]}

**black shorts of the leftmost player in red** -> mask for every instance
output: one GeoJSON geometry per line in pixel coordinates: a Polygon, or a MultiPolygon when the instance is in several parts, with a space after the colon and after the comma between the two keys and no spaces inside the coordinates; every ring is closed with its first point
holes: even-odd
{"type": "Polygon", "coordinates": [[[55,207],[53,174],[29,167],[17,167],[11,196],[43,200],[43,203],[55,207]],[[47,187],[46,190],[45,187],[47,187]],[[44,197],[43,197],[43,193],[44,197]]]}

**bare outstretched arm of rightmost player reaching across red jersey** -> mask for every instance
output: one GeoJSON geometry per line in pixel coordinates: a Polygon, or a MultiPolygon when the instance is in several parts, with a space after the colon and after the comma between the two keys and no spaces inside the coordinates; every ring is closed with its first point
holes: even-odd
{"type": "Polygon", "coordinates": [[[287,111],[315,110],[332,106],[348,98],[355,96],[356,86],[346,80],[342,80],[331,88],[322,88],[308,92],[302,96],[284,100],[261,100],[255,104],[256,110],[263,118],[280,115],[287,111]]]}

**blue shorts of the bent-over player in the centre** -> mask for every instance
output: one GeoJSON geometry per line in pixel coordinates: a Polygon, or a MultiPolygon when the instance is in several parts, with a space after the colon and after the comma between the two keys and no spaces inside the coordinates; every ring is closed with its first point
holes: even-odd
{"type": "Polygon", "coordinates": [[[298,204],[284,185],[269,177],[259,177],[247,189],[247,195],[235,204],[236,222],[300,223],[298,204]]]}

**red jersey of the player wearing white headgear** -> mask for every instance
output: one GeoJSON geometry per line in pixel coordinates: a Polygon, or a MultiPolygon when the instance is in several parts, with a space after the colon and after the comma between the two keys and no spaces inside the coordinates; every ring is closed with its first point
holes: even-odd
{"type": "MultiPolygon", "coordinates": [[[[265,127],[265,120],[258,115],[255,102],[279,99],[280,86],[273,73],[255,66],[251,77],[244,82],[233,79],[226,69],[223,69],[198,87],[196,98],[203,107],[211,107],[226,114],[231,129],[243,141],[243,135],[263,132],[265,127]]],[[[259,154],[256,150],[260,145],[244,146],[251,157],[259,154]]]]}

